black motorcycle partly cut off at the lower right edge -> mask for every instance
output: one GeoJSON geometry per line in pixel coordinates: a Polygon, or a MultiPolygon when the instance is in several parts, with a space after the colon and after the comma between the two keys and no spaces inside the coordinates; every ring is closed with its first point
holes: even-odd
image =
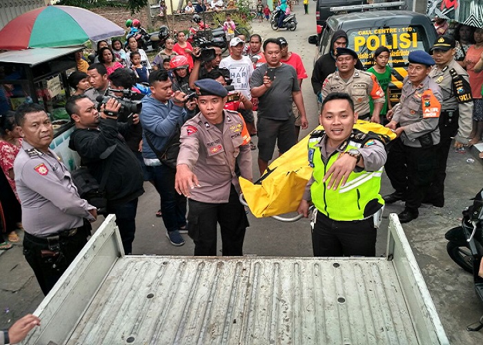
{"type": "MultiPolygon", "coordinates": [[[[483,257],[483,189],[473,201],[473,205],[463,210],[461,226],[449,230],[444,237],[448,240],[446,250],[453,261],[473,274],[475,293],[483,302],[483,277],[478,274],[483,257]]],[[[483,316],[475,324],[466,326],[467,331],[480,331],[483,316]]]]}

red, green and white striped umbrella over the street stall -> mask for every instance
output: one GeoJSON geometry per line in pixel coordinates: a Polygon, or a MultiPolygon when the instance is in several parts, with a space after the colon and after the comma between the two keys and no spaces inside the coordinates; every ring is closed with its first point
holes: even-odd
{"type": "Polygon", "coordinates": [[[89,10],[47,6],[9,21],[0,30],[0,49],[78,46],[89,39],[99,41],[123,34],[123,28],[89,10]]]}

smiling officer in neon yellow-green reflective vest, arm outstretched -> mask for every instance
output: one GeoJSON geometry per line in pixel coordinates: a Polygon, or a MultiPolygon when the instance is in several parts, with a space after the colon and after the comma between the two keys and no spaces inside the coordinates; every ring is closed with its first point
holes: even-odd
{"type": "Polygon", "coordinates": [[[353,128],[357,121],[351,96],[333,92],[324,98],[319,122],[312,133],[308,181],[298,213],[312,216],[314,256],[375,256],[376,228],[384,200],[380,195],[384,141],[353,128]]]}

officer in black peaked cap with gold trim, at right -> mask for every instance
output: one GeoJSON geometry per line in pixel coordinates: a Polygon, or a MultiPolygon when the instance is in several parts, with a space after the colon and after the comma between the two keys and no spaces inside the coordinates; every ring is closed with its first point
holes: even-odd
{"type": "Polygon", "coordinates": [[[473,97],[466,70],[454,59],[456,43],[451,36],[438,37],[433,45],[435,66],[429,73],[441,88],[443,102],[440,115],[440,145],[436,149],[437,168],[433,184],[423,202],[437,207],[444,206],[444,179],[451,140],[455,138],[455,148],[460,149],[469,143],[473,97]]]}

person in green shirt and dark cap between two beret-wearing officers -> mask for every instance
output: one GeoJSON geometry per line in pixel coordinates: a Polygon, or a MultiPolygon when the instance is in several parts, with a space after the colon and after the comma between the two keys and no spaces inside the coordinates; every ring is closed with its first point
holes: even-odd
{"type": "MultiPolygon", "coordinates": [[[[380,46],[374,52],[374,60],[375,65],[367,70],[367,72],[372,73],[379,81],[382,90],[384,90],[384,95],[386,95],[386,102],[382,107],[380,112],[381,115],[381,124],[388,124],[388,120],[386,119],[386,114],[388,110],[391,110],[393,107],[391,106],[391,98],[389,97],[389,82],[391,81],[391,67],[387,66],[387,63],[391,57],[391,51],[384,46],[380,46]]],[[[369,106],[371,106],[371,114],[374,110],[374,103],[373,100],[369,100],[369,106]]]]}

